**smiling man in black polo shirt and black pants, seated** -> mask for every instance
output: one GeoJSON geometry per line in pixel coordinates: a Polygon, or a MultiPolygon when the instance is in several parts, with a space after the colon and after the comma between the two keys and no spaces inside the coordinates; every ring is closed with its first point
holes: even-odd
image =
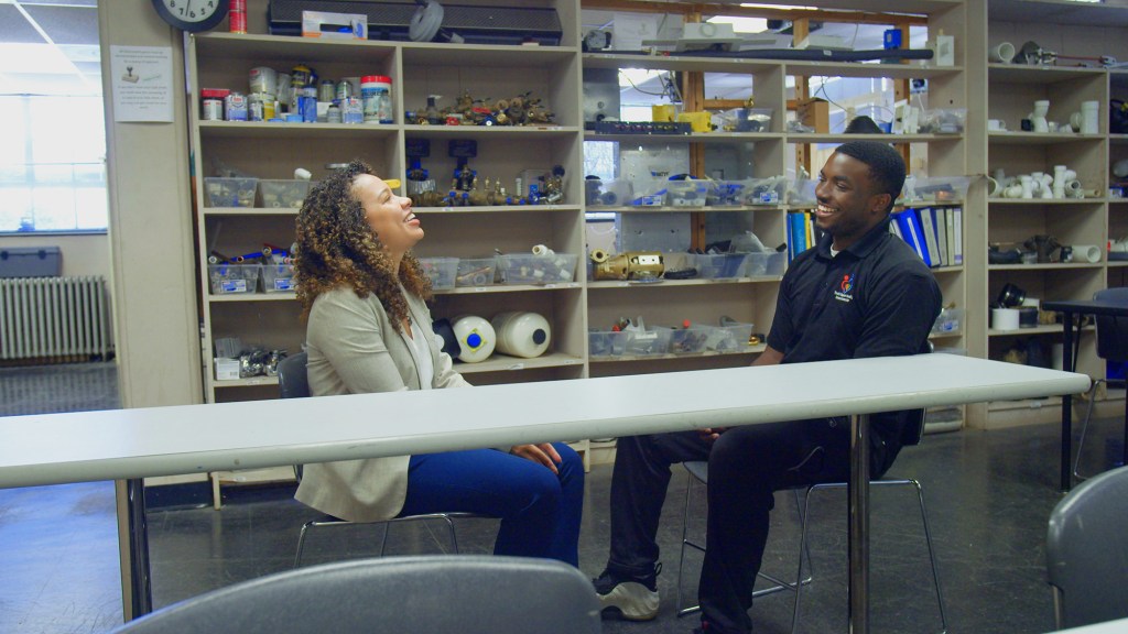
{"type": "MultiPolygon", "coordinates": [[[[889,212],[905,183],[891,147],[852,141],[819,173],[816,222],[825,236],[791,263],[779,285],[767,350],[754,366],[927,351],[941,310],[932,272],[889,232],[889,212]]],[[[819,386],[807,386],[817,395],[819,386]]],[[[911,413],[871,419],[871,474],[880,477],[900,450],[911,413]]],[[[748,609],[768,536],[773,493],[849,477],[849,425],[817,419],[620,438],[611,477],[611,547],[594,580],[605,614],[632,620],[658,615],[658,520],[670,465],[708,465],[707,551],[698,598],[706,634],[751,631],[748,609]]]]}

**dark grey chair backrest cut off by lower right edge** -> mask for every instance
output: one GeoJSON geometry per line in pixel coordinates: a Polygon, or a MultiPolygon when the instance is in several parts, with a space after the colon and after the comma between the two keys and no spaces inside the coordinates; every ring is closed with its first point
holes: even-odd
{"type": "Polygon", "coordinates": [[[1128,467],[1090,478],[1058,502],[1046,564],[1058,627],[1128,617],[1128,467]]]}

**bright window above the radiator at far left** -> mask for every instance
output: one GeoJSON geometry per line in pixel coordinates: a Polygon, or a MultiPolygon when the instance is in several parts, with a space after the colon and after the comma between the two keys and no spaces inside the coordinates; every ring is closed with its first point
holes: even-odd
{"type": "Polygon", "coordinates": [[[102,97],[0,95],[0,232],[104,231],[102,97]]]}

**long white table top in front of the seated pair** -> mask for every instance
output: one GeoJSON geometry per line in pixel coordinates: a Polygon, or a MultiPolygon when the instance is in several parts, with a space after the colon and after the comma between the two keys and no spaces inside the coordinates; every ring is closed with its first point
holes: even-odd
{"type": "Polygon", "coordinates": [[[0,487],[503,447],[1064,394],[950,354],[0,417],[0,487]]]}

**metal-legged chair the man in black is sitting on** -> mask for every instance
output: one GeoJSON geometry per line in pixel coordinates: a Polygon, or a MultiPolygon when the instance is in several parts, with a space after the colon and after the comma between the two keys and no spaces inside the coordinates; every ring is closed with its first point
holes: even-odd
{"type": "MultiPolygon", "coordinates": [[[[902,432],[901,446],[909,447],[914,444],[920,444],[920,439],[924,437],[924,411],[920,411],[918,416],[915,416],[911,424],[907,424],[902,432]]],[[[689,520],[689,491],[694,486],[694,483],[700,483],[708,485],[708,463],[706,461],[693,461],[684,464],[686,472],[689,474],[689,483],[687,484],[686,491],[686,522],[689,520]]],[[[928,561],[932,564],[932,579],[936,588],[936,605],[940,608],[940,622],[941,622],[941,634],[948,632],[948,616],[944,613],[944,596],[940,588],[940,573],[936,569],[936,553],[932,545],[932,531],[928,528],[928,514],[924,507],[924,493],[920,488],[920,483],[911,478],[880,478],[870,482],[871,486],[911,486],[916,492],[917,502],[920,505],[920,520],[924,525],[924,537],[925,544],[928,546],[928,561]]],[[[792,614],[791,631],[792,634],[799,632],[799,617],[800,607],[802,599],[802,590],[804,585],[812,582],[813,570],[811,565],[811,552],[807,543],[807,529],[808,529],[808,518],[810,518],[810,507],[811,496],[817,491],[826,491],[831,488],[843,488],[847,487],[845,482],[834,482],[834,483],[822,483],[813,484],[810,486],[802,486],[795,488],[795,502],[800,508],[799,519],[800,519],[800,541],[799,541],[799,572],[795,575],[794,581],[783,581],[776,579],[775,576],[760,573],[760,576],[770,581],[774,585],[757,590],[752,593],[752,597],[760,597],[764,595],[770,595],[779,592],[782,590],[791,590],[795,592],[795,609],[792,614]],[[805,490],[805,491],[804,491],[805,490]],[[804,491],[802,494],[802,502],[800,502],[800,491],[804,491]],[[807,560],[807,566],[804,569],[803,560],[807,560]],[[805,570],[805,573],[804,573],[805,570]]],[[[686,546],[704,551],[703,546],[695,544],[686,538],[686,528],[682,527],[681,531],[681,560],[685,561],[686,546]]],[[[696,611],[697,607],[693,608],[681,608],[681,567],[678,569],[678,616],[684,614],[689,614],[696,611]]]]}

